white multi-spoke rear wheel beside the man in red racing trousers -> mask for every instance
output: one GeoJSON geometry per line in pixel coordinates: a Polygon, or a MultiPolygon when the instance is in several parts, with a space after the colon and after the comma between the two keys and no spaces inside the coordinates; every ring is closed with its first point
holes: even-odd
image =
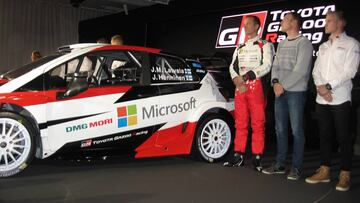
{"type": "Polygon", "coordinates": [[[221,115],[209,115],[196,131],[196,151],[208,161],[221,160],[228,153],[232,142],[232,130],[228,119],[221,115]]]}

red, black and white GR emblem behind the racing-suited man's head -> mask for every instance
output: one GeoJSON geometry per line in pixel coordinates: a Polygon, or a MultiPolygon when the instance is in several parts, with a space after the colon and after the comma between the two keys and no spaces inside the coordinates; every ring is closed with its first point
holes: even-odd
{"type": "Polygon", "coordinates": [[[244,43],[247,40],[244,29],[245,19],[246,16],[249,15],[257,16],[260,19],[258,35],[261,37],[265,26],[267,11],[224,16],[221,19],[216,48],[236,47],[236,45],[244,43]]]}

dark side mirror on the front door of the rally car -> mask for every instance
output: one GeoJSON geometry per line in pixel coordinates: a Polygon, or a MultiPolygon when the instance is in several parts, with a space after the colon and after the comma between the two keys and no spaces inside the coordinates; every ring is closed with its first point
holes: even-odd
{"type": "Polygon", "coordinates": [[[72,80],[70,81],[66,92],[59,92],[57,94],[57,99],[73,97],[86,91],[89,88],[87,76],[88,72],[79,72],[69,75],[69,77],[72,77],[72,80]]]}

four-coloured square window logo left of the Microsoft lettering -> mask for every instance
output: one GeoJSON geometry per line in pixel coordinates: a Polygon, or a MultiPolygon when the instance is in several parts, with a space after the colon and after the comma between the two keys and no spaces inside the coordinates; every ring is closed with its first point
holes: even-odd
{"type": "Polygon", "coordinates": [[[136,105],[128,105],[117,108],[118,128],[137,124],[136,105]]]}

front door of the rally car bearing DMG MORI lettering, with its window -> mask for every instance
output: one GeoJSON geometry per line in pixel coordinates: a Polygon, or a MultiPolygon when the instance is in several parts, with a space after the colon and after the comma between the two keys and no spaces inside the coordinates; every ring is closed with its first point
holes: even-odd
{"type": "Polygon", "coordinates": [[[150,136],[153,127],[141,122],[139,115],[141,103],[150,100],[140,91],[148,86],[142,82],[143,68],[131,52],[113,50],[83,55],[51,70],[47,92],[52,101],[46,110],[51,148],[134,148],[150,136]],[[89,87],[76,96],[59,98],[72,72],[88,73],[89,87]]]}

